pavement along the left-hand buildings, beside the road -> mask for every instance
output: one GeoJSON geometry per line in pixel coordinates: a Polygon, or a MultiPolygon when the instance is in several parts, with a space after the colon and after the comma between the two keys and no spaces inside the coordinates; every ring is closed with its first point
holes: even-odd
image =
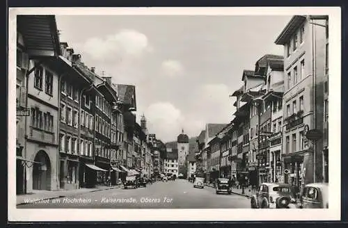
{"type": "Polygon", "coordinates": [[[71,197],[84,193],[93,193],[100,190],[109,190],[113,188],[121,188],[118,186],[98,186],[96,188],[79,188],[73,190],[33,190],[33,193],[25,195],[16,195],[16,205],[30,204],[31,200],[56,199],[61,197],[71,197]]]}

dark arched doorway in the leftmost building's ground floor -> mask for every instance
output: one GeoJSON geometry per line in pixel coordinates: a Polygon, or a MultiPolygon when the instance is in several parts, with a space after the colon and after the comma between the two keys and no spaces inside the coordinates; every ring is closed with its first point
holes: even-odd
{"type": "Polygon", "coordinates": [[[36,154],[33,165],[33,190],[51,190],[51,162],[43,150],[36,154]]]}

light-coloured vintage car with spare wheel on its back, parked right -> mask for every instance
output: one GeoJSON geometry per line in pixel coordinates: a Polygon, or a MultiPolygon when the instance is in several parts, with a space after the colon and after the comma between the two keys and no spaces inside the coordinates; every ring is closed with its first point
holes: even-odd
{"type": "Polygon", "coordinates": [[[290,209],[295,203],[294,187],[290,184],[262,183],[251,197],[252,209],[290,209]]]}

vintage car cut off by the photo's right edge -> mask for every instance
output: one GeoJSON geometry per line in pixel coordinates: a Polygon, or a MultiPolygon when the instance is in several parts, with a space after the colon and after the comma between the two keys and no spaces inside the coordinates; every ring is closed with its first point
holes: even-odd
{"type": "Polygon", "coordinates": [[[301,194],[301,208],[329,209],[329,184],[306,184],[301,194]]]}

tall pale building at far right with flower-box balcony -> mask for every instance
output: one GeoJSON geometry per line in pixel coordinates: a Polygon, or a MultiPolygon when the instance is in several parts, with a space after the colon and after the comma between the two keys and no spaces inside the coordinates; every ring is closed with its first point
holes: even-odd
{"type": "Polygon", "coordinates": [[[301,187],[323,181],[323,140],[312,143],[308,129],[323,131],[327,16],[294,16],[276,39],[284,46],[284,181],[301,187]]]}

